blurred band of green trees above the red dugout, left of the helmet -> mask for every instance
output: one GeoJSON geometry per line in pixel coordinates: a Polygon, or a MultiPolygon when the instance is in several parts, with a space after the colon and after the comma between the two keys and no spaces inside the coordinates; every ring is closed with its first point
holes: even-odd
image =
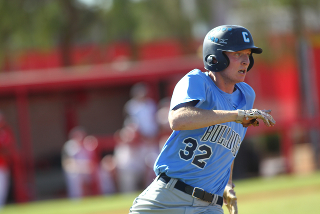
{"type": "Polygon", "coordinates": [[[208,4],[208,0],[1,1],[0,61],[14,70],[14,59],[24,50],[58,47],[61,66],[71,66],[72,47],[83,43],[126,41],[135,53],[139,43],[175,38],[187,47],[194,22],[209,23],[204,21],[210,19],[208,4]],[[185,6],[191,11],[185,13],[185,6]]]}

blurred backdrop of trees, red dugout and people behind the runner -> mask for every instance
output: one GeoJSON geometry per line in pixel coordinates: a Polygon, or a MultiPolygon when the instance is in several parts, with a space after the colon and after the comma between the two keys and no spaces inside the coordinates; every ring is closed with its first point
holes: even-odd
{"type": "Polygon", "coordinates": [[[234,179],[317,171],[320,1],[2,0],[1,203],[143,189],[173,88],[223,24],[263,49],[245,82],[276,120],[248,128],[234,179]]]}

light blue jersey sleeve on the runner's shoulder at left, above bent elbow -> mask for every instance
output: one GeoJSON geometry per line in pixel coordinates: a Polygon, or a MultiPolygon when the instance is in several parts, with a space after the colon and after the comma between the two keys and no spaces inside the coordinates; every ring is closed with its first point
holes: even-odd
{"type": "Polygon", "coordinates": [[[176,84],[170,103],[170,110],[181,103],[198,100],[196,106],[205,101],[206,81],[200,70],[193,70],[186,74],[176,84]]]}

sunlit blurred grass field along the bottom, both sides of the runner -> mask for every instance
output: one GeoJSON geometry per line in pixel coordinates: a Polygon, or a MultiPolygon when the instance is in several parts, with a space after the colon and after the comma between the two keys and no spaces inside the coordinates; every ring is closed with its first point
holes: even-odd
{"type": "MultiPolygon", "coordinates": [[[[239,213],[320,213],[320,172],[236,180],[239,213]]],[[[2,214],[126,214],[138,194],[115,194],[79,200],[54,199],[7,204],[2,214]]],[[[228,211],[224,207],[224,213],[228,211]]]]}

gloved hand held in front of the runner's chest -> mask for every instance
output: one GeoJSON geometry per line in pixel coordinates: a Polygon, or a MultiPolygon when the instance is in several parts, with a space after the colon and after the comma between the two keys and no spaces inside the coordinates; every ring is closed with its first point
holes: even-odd
{"type": "Polygon", "coordinates": [[[235,120],[236,123],[241,123],[243,127],[248,126],[258,126],[259,122],[257,119],[261,119],[265,126],[273,126],[275,124],[275,120],[270,115],[271,110],[258,110],[258,109],[250,109],[250,110],[237,110],[238,116],[235,120]]]}

